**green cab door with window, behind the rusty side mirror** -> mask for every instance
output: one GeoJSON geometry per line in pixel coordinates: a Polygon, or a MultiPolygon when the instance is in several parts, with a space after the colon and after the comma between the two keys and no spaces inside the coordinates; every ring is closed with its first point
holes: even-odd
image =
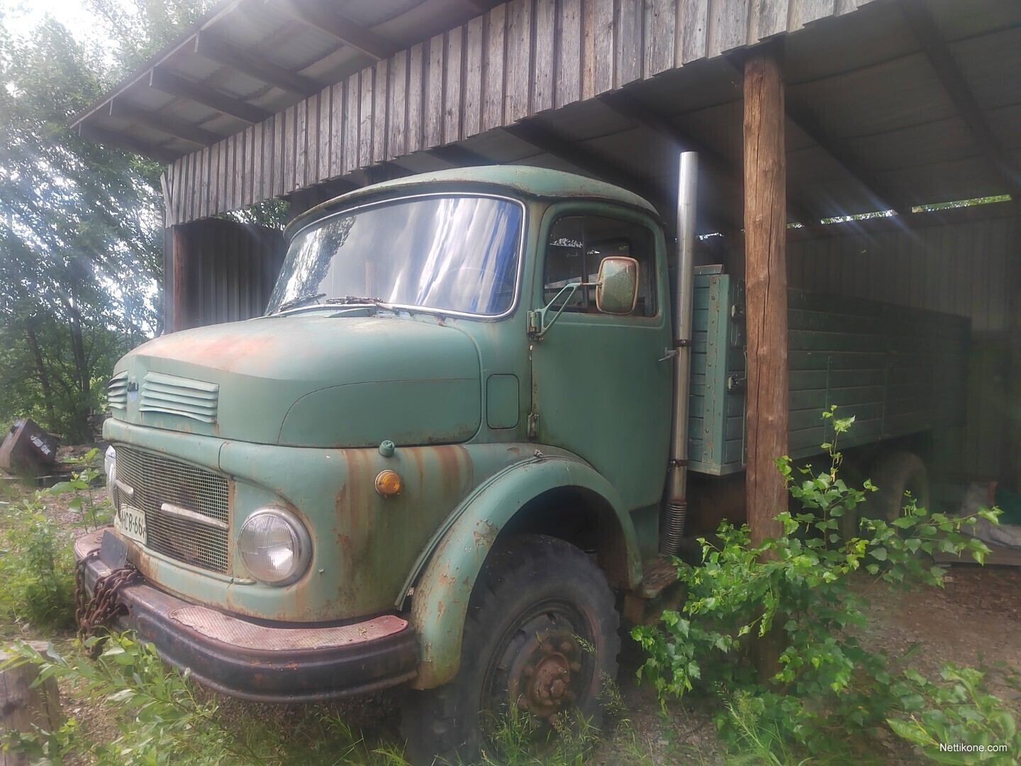
{"type": "Polygon", "coordinates": [[[662,229],[614,205],[551,208],[540,232],[532,305],[547,305],[571,282],[594,282],[607,255],[638,261],[635,309],[602,314],[595,289],[579,287],[553,326],[533,338],[530,435],[587,461],[635,510],[660,501],[670,441],[673,363],[660,361],[671,346],[662,229]]]}

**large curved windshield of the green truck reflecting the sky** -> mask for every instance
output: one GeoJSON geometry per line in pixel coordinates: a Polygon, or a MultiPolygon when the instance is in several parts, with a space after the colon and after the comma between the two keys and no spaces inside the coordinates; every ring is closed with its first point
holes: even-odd
{"type": "Polygon", "coordinates": [[[514,304],[522,206],[429,196],[340,212],[291,241],[266,314],[383,302],[494,317],[514,304]]]}

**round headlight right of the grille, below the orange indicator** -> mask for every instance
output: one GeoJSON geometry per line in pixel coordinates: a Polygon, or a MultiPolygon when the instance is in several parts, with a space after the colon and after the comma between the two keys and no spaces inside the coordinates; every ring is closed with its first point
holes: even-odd
{"type": "Polygon", "coordinates": [[[248,573],[270,585],[289,585],[308,569],[312,546],[308,532],[282,508],[248,517],[238,534],[238,552],[248,573]]]}

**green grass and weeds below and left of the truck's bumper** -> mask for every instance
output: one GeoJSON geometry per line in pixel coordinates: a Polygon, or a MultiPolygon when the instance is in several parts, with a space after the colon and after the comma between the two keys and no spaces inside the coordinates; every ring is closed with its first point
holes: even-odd
{"type": "MultiPolygon", "coordinates": [[[[52,536],[58,549],[69,547],[86,522],[72,507],[72,494],[37,494],[7,483],[0,488],[0,564],[20,567],[11,549],[23,518],[12,510],[32,505],[43,537],[52,536]]],[[[20,512],[18,512],[20,513],[20,512]]],[[[55,578],[69,577],[62,571],[55,578]]],[[[67,583],[65,583],[67,584],[67,583]]],[[[20,601],[26,597],[20,596],[20,601]]],[[[318,705],[275,706],[225,698],[192,684],[164,666],[132,637],[110,641],[99,663],[81,654],[66,621],[46,622],[25,617],[23,605],[8,589],[0,599],[0,645],[18,640],[48,641],[54,657],[37,657],[56,676],[68,723],[58,732],[31,732],[16,747],[32,759],[53,764],[406,764],[397,721],[397,691],[378,692],[349,701],[318,705]],[[60,659],[55,659],[60,658],[60,659]]],[[[22,656],[31,654],[21,650],[22,656]]],[[[529,753],[527,722],[510,720],[497,727],[496,752],[480,766],[576,766],[613,763],[646,766],[657,762],[690,762],[684,758],[653,760],[650,750],[671,751],[658,734],[639,734],[620,691],[611,685],[612,709],[605,734],[581,727],[566,747],[538,759],[529,753]],[[655,741],[653,741],[655,740],[655,741]],[[582,758],[579,752],[591,752],[582,758]]],[[[653,721],[653,724],[657,722],[653,721]]],[[[573,727],[574,728],[574,727],[573,727]]],[[[654,726],[659,729],[659,726],[654,726]]],[[[466,765],[467,766],[467,765],[466,765]]]]}

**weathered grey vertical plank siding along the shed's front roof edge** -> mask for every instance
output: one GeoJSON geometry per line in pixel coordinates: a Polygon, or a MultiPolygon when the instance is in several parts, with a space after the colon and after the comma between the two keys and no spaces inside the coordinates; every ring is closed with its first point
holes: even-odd
{"type": "Polygon", "coordinates": [[[167,170],[166,225],[595,98],[870,0],[512,0],[167,170]]]}

